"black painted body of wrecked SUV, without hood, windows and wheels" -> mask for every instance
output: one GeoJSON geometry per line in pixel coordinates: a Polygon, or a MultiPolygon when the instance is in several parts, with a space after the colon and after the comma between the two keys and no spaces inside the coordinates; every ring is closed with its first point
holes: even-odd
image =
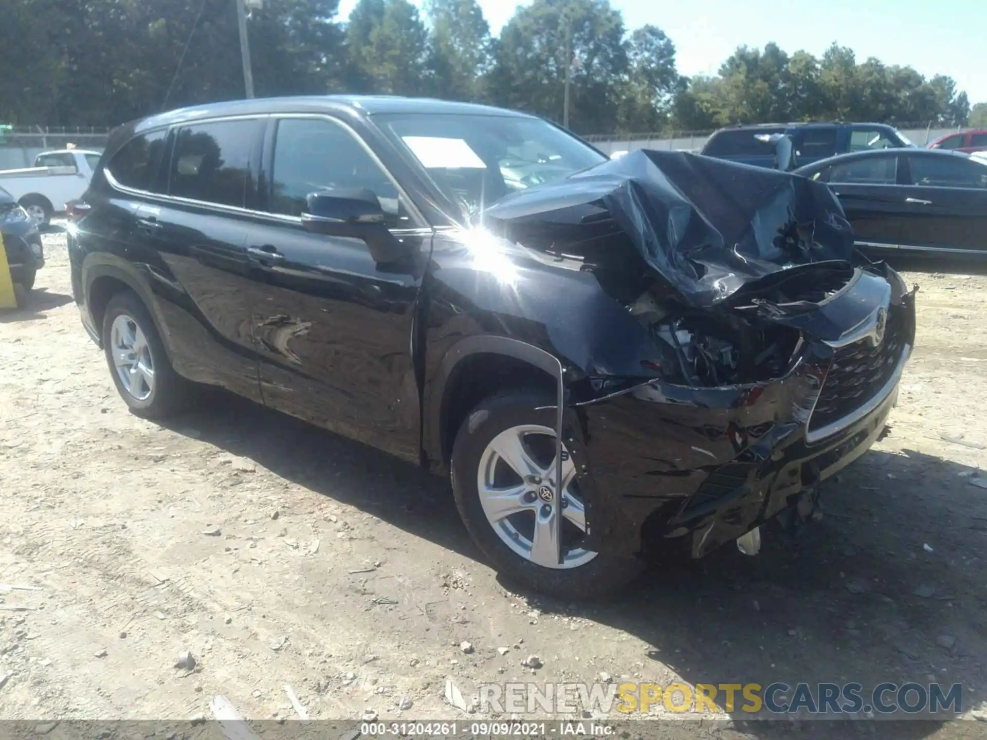
{"type": "Polygon", "coordinates": [[[164,177],[155,192],[127,189],[101,166],[85,196],[91,210],[70,240],[83,323],[99,340],[109,296],[132,289],[182,375],[440,473],[464,383],[502,366],[502,387],[542,378],[555,389],[561,363],[564,437],[586,498],[589,544],[621,555],[643,549],[643,532],[687,538],[703,555],[792,504],[879,434],[896,385],[846,428],[806,439],[834,342],[885,303],[912,341],[912,294],[892,270],[858,270],[815,309],[783,311],[777,323],[804,339],[783,377],[722,388],[669,383],[652,362],[655,339],[615,287],[623,278],[455,223],[447,196],[373,122],[377,111],[413,108],[519,115],[436,102],[278,99],[175,111],[117,130],[104,162],[135,132],[225,116],[268,121],[258,125],[251,163],[257,187],[242,206],[171,197],[164,177]],[[301,218],[266,212],[266,150],[279,115],[338,121],[373,152],[410,214],[392,231],[402,259],[379,263],[355,236],[313,233],[301,218]]]}

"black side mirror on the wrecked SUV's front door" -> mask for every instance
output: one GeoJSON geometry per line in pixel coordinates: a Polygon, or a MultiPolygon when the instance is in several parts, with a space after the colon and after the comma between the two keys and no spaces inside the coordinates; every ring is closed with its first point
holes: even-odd
{"type": "Polygon", "coordinates": [[[310,192],[302,226],[315,234],[362,239],[376,262],[393,262],[408,254],[387,228],[384,209],[365,187],[340,187],[310,192]]]}

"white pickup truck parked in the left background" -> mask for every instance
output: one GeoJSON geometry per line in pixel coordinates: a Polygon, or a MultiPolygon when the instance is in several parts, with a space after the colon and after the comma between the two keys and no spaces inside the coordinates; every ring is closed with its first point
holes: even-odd
{"type": "Polygon", "coordinates": [[[34,167],[0,170],[0,187],[44,227],[65,203],[82,197],[99,161],[100,153],[88,149],[41,152],[34,167]]]}

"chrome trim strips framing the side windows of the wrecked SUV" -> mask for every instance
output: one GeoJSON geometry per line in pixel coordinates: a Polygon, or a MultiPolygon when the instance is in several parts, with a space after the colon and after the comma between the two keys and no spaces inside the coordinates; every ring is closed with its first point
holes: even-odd
{"type": "MultiPolygon", "coordinates": [[[[405,190],[404,187],[402,187],[398,183],[398,181],[391,174],[391,172],[386,167],[384,167],[384,163],[380,161],[380,157],[378,157],[377,154],[360,137],[360,135],[356,133],[355,129],[353,129],[352,126],[340,120],[339,118],[333,117],[332,115],[326,113],[245,113],[242,115],[222,115],[214,118],[196,118],[195,120],[184,121],[182,123],[173,123],[172,125],[167,126],[164,129],[155,128],[153,130],[155,131],[165,130],[167,133],[173,128],[182,128],[183,126],[197,125],[200,123],[217,123],[227,120],[265,120],[269,118],[317,118],[317,119],[321,118],[323,120],[327,120],[330,123],[334,123],[342,127],[350,136],[352,136],[357,142],[359,142],[360,146],[363,147],[363,150],[370,155],[370,158],[374,161],[374,164],[376,164],[381,169],[381,172],[384,173],[384,176],[388,180],[390,180],[391,183],[397,188],[399,197],[404,197],[405,202],[407,202],[408,204],[410,215],[416,221],[418,221],[417,226],[411,226],[402,229],[391,229],[390,230],[391,233],[395,234],[396,236],[418,235],[421,234],[422,232],[427,234],[431,233],[432,229],[430,226],[428,226],[428,221],[424,218],[424,216],[421,215],[421,212],[418,210],[418,206],[415,204],[415,201],[413,201],[411,197],[409,197],[408,192],[405,190]]],[[[142,132],[141,134],[138,135],[143,135],[144,133],[147,132],[142,132]]],[[[107,164],[109,165],[110,163],[108,162],[107,164]]],[[[217,210],[221,213],[225,213],[228,215],[266,218],[266,219],[272,219],[274,221],[281,221],[282,223],[290,223],[298,226],[302,225],[302,219],[300,216],[289,216],[284,213],[271,213],[269,211],[254,210],[253,208],[244,208],[238,205],[226,205],[224,203],[214,203],[211,200],[197,200],[195,198],[182,197],[181,195],[170,195],[165,192],[152,192],[151,190],[142,190],[138,187],[128,187],[127,185],[121,185],[114,178],[114,175],[110,171],[109,167],[103,168],[103,174],[106,176],[107,181],[114,188],[114,190],[117,190],[127,195],[136,195],[138,197],[144,197],[151,200],[161,201],[164,203],[192,205],[198,208],[217,210]]]]}

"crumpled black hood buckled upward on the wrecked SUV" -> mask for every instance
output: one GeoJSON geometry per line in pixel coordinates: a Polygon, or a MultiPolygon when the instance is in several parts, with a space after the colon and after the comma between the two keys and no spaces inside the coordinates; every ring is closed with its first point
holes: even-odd
{"type": "Polygon", "coordinates": [[[484,222],[531,249],[578,255],[593,243],[598,255],[601,240],[630,245],[696,308],[793,266],[849,262],[854,244],[826,185],[679,152],[640,150],[514,193],[484,222]]]}

